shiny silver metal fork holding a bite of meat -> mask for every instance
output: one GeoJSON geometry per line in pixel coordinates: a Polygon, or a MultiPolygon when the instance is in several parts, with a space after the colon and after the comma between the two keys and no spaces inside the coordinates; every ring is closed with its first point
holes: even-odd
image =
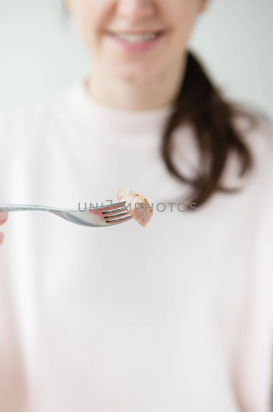
{"type": "Polygon", "coordinates": [[[112,226],[118,223],[124,223],[127,220],[133,219],[128,209],[125,207],[125,201],[120,203],[114,203],[101,207],[85,208],[84,210],[78,209],[57,209],[47,206],[36,205],[8,205],[0,204],[1,212],[14,212],[14,211],[30,211],[41,210],[45,212],[51,212],[60,216],[69,222],[76,223],[77,225],[102,227],[112,226]]]}

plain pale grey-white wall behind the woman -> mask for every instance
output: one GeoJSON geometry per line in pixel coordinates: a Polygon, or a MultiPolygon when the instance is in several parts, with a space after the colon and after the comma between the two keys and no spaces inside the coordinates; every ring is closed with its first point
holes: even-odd
{"type": "MultiPolygon", "coordinates": [[[[229,96],[270,117],[272,21],[273,0],[212,0],[191,39],[229,96]]],[[[0,1],[0,111],[69,87],[88,70],[88,54],[61,0],[0,1]]]]}

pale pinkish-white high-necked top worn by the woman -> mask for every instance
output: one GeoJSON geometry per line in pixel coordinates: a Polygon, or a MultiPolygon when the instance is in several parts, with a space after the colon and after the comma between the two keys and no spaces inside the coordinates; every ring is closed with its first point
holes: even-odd
{"type": "MultiPolygon", "coordinates": [[[[255,167],[242,192],[182,212],[188,188],[160,154],[170,110],[105,107],[82,80],[1,118],[1,204],[108,204],[119,187],[154,204],[146,228],[9,213],[1,411],[270,410],[272,138],[264,125],[245,135],[255,167]]],[[[194,168],[190,126],[174,144],[175,162],[194,168]]],[[[230,161],[230,181],[235,169],[230,161]]]]}

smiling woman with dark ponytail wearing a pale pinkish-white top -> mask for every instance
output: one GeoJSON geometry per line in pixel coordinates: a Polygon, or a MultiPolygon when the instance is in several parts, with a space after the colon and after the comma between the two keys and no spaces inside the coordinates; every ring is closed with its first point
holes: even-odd
{"type": "Polygon", "coordinates": [[[66,5],[91,75],[2,117],[1,203],[77,208],[131,187],[154,216],[9,215],[3,410],[269,411],[272,138],[187,52],[206,1],[66,5]]]}

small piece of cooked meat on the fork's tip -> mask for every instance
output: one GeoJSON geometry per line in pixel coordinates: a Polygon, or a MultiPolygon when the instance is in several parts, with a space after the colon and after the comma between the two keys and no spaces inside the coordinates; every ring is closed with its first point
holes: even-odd
{"type": "Polygon", "coordinates": [[[120,202],[126,201],[125,207],[141,226],[145,227],[151,220],[153,212],[146,197],[130,189],[119,189],[117,198],[120,202]]]}

